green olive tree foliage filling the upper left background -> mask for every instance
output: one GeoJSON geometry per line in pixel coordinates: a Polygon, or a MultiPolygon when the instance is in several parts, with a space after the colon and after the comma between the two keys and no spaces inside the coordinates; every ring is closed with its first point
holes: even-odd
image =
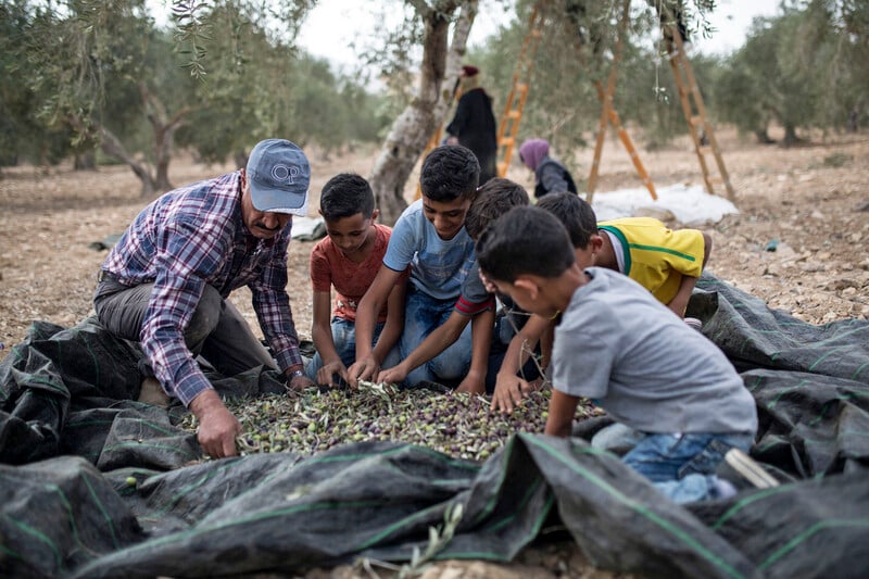
{"type": "Polygon", "coordinates": [[[153,163],[174,121],[215,162],[275,135],[327,149],[376,139],[382,101],[292,45],[312,5],[178,1],[179,27],[161,29],[143,0],[3,1],[0,159],[60,159],[106,129],[153,163]]]}

